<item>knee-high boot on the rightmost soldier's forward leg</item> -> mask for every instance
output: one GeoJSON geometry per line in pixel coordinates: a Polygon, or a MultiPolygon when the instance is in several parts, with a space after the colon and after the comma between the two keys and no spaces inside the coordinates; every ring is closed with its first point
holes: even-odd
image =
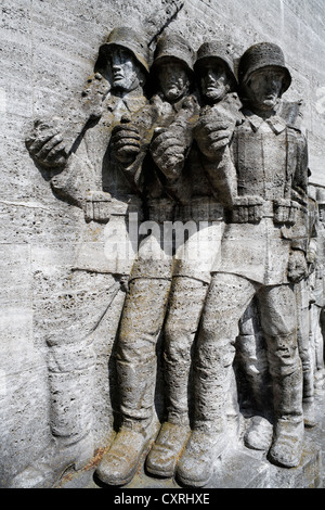
{"type": "Polygon", "coordinates": [[[177,470],[185,485],[206,485],[212,476],[214,460],[227,446],[226,409],[233,377],[233,343],[234,340],[224,340],[217,347],[206,342],[198,347],[194,430],[177,470]]]}

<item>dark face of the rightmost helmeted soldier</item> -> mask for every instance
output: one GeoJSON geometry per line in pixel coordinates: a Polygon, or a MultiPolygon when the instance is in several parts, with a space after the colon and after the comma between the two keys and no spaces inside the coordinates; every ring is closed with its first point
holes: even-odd
{"type": "Polygon", "coordinates": [[[274,110],[283,90],[283,74],[281,71],[265,68],[253,73],[247,85],[246,95],[257,110],[274,110]]]}

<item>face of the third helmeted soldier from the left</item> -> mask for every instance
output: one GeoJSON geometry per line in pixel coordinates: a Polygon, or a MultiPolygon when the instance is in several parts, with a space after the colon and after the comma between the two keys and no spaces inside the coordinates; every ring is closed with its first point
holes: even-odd
{"type": "Polygon", "coordinates": [[[217,103],[230,91],[230,81],[222,64],[209,63],[202,69],[202,94],[207,102],[217,103]]]}

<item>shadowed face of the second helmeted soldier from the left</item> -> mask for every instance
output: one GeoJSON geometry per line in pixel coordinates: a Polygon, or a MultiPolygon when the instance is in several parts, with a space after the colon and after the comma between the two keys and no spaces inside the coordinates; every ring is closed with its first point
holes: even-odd
{"type": "Polygon", "coordinates": [[[190,89],[190,77],[185,67],[179,62],[162,63],[158,71],[158,81],[167,101],[182,99],[190,89]]]}

